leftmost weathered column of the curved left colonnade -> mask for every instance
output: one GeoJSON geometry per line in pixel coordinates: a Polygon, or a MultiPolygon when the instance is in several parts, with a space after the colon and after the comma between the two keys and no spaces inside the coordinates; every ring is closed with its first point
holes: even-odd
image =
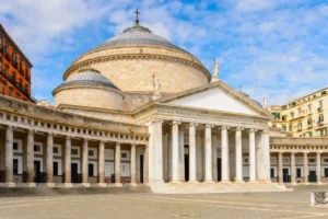
{"type": "Polygon", "coordinates": [[[13,182],[13,128],[8,126],[5,129],[5,158],[4,158],[4,184],[7,187],[14,187],[13,182]]]}

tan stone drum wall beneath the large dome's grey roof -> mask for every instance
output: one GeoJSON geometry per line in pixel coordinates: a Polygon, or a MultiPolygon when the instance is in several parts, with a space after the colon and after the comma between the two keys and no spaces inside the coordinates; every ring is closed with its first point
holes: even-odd
{"type": "MultiPolygon", "coordinates": [[[[106,61],[94,61],[91,66],[113,81],[122,92],[153,93],[153,77],[160,80],[162,93],[177,93],[203,85],[207,84],[210,79],[209,72],[192,55],[164,48],[132,47],[106,49],[82,56],[73,66],[103,56],[115,56],[117,58],[106,61]],[[148,54],[149,56],[164,57],[125,57],[138,55],[140,54],[140,49],[143,49],[141,55],[148,54]],[[172,56],[172,58],[165,56],[172,56]],[[179,58],[181,60],[171,60],[173,58],[179,58]],[[199,69],[183,64],[183,61],[195,64],[199,69]]],[[[73,71],[69,69],[65,78],[78,71],[79,68],[73,71]]]]}

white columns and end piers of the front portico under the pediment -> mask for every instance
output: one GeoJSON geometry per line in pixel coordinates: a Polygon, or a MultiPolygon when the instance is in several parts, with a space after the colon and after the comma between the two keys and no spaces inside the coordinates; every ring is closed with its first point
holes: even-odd
{"type": "MultiPolygon", "coordinates": [[[[163,178],[163,165],[166,163],[163,162],[163,136],[162,136],[162,126],[164,120],[157,119],[153,120],[150,125],[150,159],[152,166],[150,169],[150,178],[151,182],[164,182],[163,178]],[[153,165],[152,165],[153,164],[153,165]]],[[[183,126],[181,122],[173,120],[169,122],[172,126],[172,142],[171,147],[172,150],[169,151],[169,155],[172,155],[172,183],[180,183],[184,182],[184,177],[181,177],[181,171],[179,164],[181,161],[179,157],[184,155],[184,150],[180,150],[179,143],[179,130],[183,126]]],[[[198,124],[196,123],[188,123],[184,124],[185,127],[188,127],[189,131],[189,182],[197,183],[197,135],[196,135],[196,127],[198,124]],[[186,126],[187,125],[187,126],[186,126]]],[[[203,125],[202,131],[204,136],[203,142],[203,151],[204,151],[204,173],[203,173],[203,182],[204,183],[214,183],[213,172],[215,171],[213,168],[213,163],[216,161],[213,160],[213,153],[216,154],[216,146],[212,146],[212,129],[214,128],[213,125],[203,125]]],[[[236,172],[236,183],[244,183],[243,180],[243,150],[242,150],[242,131],[248,131],[248,152],[249,152],[249,183],[256,183],[258,181],[266,181],[270,182],[270,152],[269,152],[269,135],[267,131],[259,131],[259,140],[258,147],[256,148],[256,138],[255,132],[256,130],[253,128],[242,128],[242,127],[227,127],[227,126],[220,126],[219,129],[221,130],[221,182],[222,183],[231,183],[232,178],[230,175],[230,146],[229,143],[229,129],[235,131],[235,172],[236,172]],[[257,164],[257,161],[259,162],[257,164]]],[[[215,158],[214,158],[215,159],[215,158]]],[[[184,171],[183,171],[184,172],[184,171]]]]}

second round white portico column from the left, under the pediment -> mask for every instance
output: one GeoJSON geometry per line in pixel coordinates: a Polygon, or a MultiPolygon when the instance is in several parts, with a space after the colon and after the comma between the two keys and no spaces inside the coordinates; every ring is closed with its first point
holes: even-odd
{"type": "Polygon", "coordinates": [[[196,126],[189,124],[189,183],[198,183],[196,171],[196,126]]]}

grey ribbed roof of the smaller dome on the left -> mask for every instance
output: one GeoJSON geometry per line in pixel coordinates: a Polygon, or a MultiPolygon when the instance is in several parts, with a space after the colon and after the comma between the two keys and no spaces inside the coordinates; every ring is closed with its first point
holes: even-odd
{"type": "Polygon", "coordinates": [[[85,68],[81,69],[79,73],[69,77],[63,83],[57,87],[54,92],[58,89],[72,85],[102,85],[120,91],[112,81],[102,76],[97,70],[85,68]]]}

